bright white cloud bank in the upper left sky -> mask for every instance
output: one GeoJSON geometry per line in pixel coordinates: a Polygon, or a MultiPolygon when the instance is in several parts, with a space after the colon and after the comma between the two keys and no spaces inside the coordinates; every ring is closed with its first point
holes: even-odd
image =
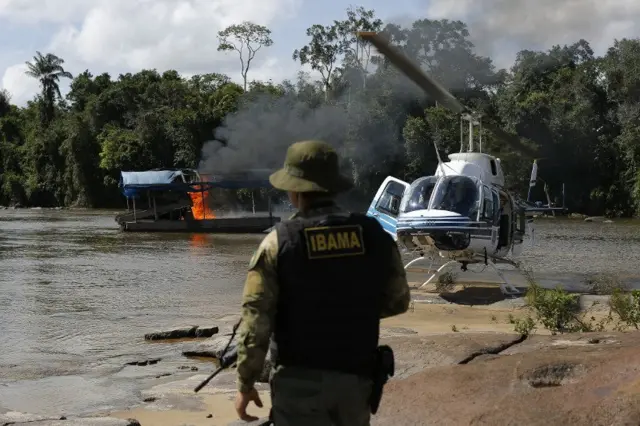
{"type": "MultiPolygon", "coordinates": [[[[217,51],[217,32],[245,20],[271,26],[292,17],[301,1],[0,0],[0,17],[57,24],[59,30],[41,50],[64,58],[72,73],[173,68],[185,74],[228,72],[237,78],[238,57],[217,51]]],[[[269,54],[265,49],[256,56],[251,78],[277,78],[277,60],[269,54]]],[[[24,86],[29,80],[17,78],[16,69],[5,71],[3,87],[18,102],[18,93],[33,86],[24,86]]]]}

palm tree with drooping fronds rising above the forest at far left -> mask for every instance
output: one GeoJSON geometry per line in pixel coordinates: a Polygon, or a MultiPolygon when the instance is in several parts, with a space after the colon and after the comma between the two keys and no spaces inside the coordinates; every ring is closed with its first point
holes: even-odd
{"type": "Polygon", "coordinates": [[[45,56],[40,52],[36,52],[33,62],[27,62],[29,69],[26,74],[30,77],[37,78],[42,87],[42,119],[44,124],[48,124],[53,119],[55,112],[55,101],[61,99],[60,78],[73,78],[70,72],[65,71],[62,67],[64,59],[59,58],[53,53],[47,53],[45,56]]]}

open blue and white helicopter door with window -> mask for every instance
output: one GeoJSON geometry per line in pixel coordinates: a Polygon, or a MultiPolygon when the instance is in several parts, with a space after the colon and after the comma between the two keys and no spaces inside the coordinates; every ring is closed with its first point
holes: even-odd
{"type": "Polygon", "coordinates": [[[388,176],[378,188],[367,210],[367,216],[380,222],[382,228],[391,234],[394,240],[397,238],[396,225],[400,213],[400,201],[408,187],[407,182],[388,176]]]}

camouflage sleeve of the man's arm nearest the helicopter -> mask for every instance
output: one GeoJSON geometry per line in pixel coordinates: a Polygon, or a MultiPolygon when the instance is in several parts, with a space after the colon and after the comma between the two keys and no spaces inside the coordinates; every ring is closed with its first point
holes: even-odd
{"type": "MultiPolygon", "coordinates": [[[[389,238],[389,240],[391,240],[389,238]]],[[[411,302],[411,292],[409,283],[407,282],[407,274],[402,264],[402,257],[398,246],[390,241],[389,257],[390,257],[390,274],[387,282],[383,284],[383,299],[380,318],[392,317],[406,312],[411,302]]]]}

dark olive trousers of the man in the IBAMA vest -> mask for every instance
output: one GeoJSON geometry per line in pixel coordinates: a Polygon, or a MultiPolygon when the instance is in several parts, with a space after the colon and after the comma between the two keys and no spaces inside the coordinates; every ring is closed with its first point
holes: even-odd
{"type": "Polygon", "coordinates": [[[275,426],[369,426],[371,380],[352,374],[276,367],[271,374],[275,426]]]}

